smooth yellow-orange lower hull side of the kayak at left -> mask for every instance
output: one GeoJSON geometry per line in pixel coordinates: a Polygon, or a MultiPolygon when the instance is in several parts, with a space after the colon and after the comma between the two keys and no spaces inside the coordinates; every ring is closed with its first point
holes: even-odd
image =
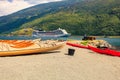
{"type": "Polygon", "coordinates": [[[63,45],[57,45],[57,46],[46,47],[46,48],[0,51],[0,56],[15,56],[15,55],[24,55],[24,54],[34,54],[34,53],[48,52],[48,51],[60,49],[62,47],[63,47],[63,45]]]}

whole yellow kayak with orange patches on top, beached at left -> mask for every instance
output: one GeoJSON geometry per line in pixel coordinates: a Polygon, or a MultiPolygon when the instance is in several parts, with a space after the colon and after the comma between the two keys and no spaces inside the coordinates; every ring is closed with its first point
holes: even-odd
{"type": "Polygon", "coordinates": [[[61,41],[0,40],[0,56],[48,52],[60,49],[63,46],[64,42],[61,41]]]}

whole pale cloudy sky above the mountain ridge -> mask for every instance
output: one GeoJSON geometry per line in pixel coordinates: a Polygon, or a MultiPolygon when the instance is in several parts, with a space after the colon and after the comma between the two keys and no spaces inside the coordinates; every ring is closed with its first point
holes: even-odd
{"type": "Polygon", "coordinates": [[[37,4],[61,0],[0,0],[0,16],[5,16],[37,4]]]}

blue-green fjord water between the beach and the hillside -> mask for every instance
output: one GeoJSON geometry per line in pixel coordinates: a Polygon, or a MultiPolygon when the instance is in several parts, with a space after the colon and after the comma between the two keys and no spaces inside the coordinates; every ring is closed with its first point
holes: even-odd
{"type": "MultiPolygon", "coordinates": [[[[83,36],[70,36],[68,38],[66,37],[61,37],[57,39],[63,39],[63,40],[82,40],[83,36]]],[[[29,40],[29,39],[36,39],[35,37],[28,37],[28,36],[0,36],[0,39],[4,40],[14,40],[14,39],[19,39],[19,40],[29,40]]],[[[47,40],[48,38],[42,39],[42,40],[47,40]]],[[[52,38],[53,39],[53,38],[52,38]]],[[[108,43],[110,43],[113,46],[120,47],[120,38],[96,38],[98,40],[105,40],[108,43]]]]}

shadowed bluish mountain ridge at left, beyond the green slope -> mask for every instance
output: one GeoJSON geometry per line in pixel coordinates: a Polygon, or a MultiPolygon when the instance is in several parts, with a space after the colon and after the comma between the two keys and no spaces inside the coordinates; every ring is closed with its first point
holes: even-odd
{"type": "Polygon", "coordinates": [[[20,28],[26,22],[40,18],[46,14],[54,13],[59,10],[59,7],[67,6],[66,2],[51,2],[30,7],[8,16],[0,17],[0,33],[12,31],[20,28]]]}

